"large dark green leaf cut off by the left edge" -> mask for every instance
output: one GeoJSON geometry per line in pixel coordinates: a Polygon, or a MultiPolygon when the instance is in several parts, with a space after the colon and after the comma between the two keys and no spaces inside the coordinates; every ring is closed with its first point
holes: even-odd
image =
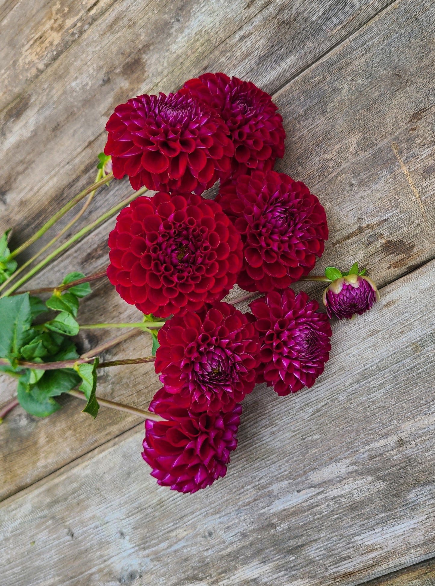
{"type": "Polygon", "coordinates": [[[18,356],[32,319],[28,293],[0,299],[0,356],[18,356]]]}

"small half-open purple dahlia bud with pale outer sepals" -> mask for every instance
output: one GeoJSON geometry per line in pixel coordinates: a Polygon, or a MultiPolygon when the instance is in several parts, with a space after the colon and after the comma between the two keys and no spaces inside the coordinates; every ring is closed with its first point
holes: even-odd
{"type": "Polygon", "coordinates": [[[352,315],[361,315],[379,301],[379,292],[375,283],[361,275],[345,275],[333,281],[325,289],[323,304],[329,318],[351,319],[352,315]]]}

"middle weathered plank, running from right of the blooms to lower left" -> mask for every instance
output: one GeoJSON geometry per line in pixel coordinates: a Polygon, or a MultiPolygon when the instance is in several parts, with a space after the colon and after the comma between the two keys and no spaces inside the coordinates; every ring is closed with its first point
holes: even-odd
{"type": "MultiPolygon", "coordinates": [[[[399,5],[389,8],[381,15],[382,18],[379,16],[375,22],[355,35],[348,44],[335,49],[325,60],[321,60],[310,70],[305,71],[277,96],[280,105],[282,102],[281,108],[286,125],[290,122],[293,125],[293,131],[287,141],[287,151],[293,162],[286,159],[285,163],[280,163],[281,168],[286,168],[286,171],[290,170],[291,174],[297,178],[304,178],[306,168],[307,183],[310,186],[314,185],[312,189],[318,193],[322,203],[327,207],[331,236],[320,267],[323,268],[334,263],[346,265],[358,260],[361,264],[369,265],[371,274],[375,276],[380,285],[389,282],[398,274],[410,270],[414,263],[419,263],[420,260],[425,260],[433,255],[429,243],[429,229],[420,220],[420,208],[413,199],[412,190],[400,170],[399,162],[390,149],[389,143],[382,143],[386,149],[383,154],[382,149],[377,151],[373,146],[377,144],[375,131],[378,127],[384,128],[386,134],[390,132],[392,138],[397,141],[400,133],[406,135],[409,130],[407,121],[412,117],[412,112],[416,112],[420,105],[424,104],[424,100],[429,100],[431,84],[414,80],[412,72],[416,70],[421,73],[424,70],[422,75],[429,76],[430,71],[433,71],[431,54],[424,49],[425,43],[430,43],[430,38],[424,36],[427,27],[423,26],[424,23],[430,22],[433,18],[433,12],[427,4],[413,5],[413,19],[410,21],[409,6],[409,3],[401,2],[399,5]],[[372,43],[373,46],[377,47],[378,53],[373,54],[371,46],[367,47],[364,39],[369,40],[368,45],[372,43]],[[403,45],[400,45],[402,42],[403,45]],[[361,83],[369,86],[369,82],[373,81],[371,69],[373,60],[378,60],[376,65],[380,71],[388,70],[392,59],[391,55],[399,53],[400,59],[407,60],[407,67],[410,71],[410,81],[401,90],[400,100],[395,97],[397,93],[393,94],[390,90],[390,78],[387,76],[376,79],[376,83],[372,83],[370,91],[365,90],[362,94],[358,94],[358,100],[352,97],[353,86],[348,85],[347,82],[349,79],[352,80],[354,70],[362,72],[361,78],[358,79],[362,80],[361,83]],[[383,61],[379,62],[378,54],[383,56],[383,61]],[[330,68],[329,60],[331,60],[330,68]],[[343,62],[342,67],[339,66],[339,60],[343,62]],[[315,73],[317,70],[319,75],[315,73]],[[328,70],[330,73],[325,73],[328,70]],[[319,79],[315,80],[316,77],[319,79]],[[426,89],[423,88],[424,83],[426,83],[426,89]],[[307,91],[304,91],[304,84],[307,91]],[[318,98],[315,98],[312,84],[317,84],[315,87],[317,87],[318,98]],[[412,84],[414,84],[413,87],[412,84]],[[349,96],[351,97],[349,98],[349,96]],[[305,97],[307,100],[306,124],[303,109],[305,97]],[[374,105],[370,105],[371,100],[374,105]],[[394,118],[393,114],[386,113],[384,103],[390,104],[390,109],[393,113],[396,112],[397,119],[394,118]],[[352,116],[347,114],[347,108],[350,108],[352,116]],[[409,118],[407,118],[408,114],[403,114],[406,112],[406,108],[410,108],[409,118]],[[369,120],[367,120],[366,111],[369,111],[371,115],[369,120]],[[322,124],[318,120],[322,120],[322,124]],[[353,158],[351,158],[346,153],[346,148],[349,148],[351,144],[358,145],[362,141],[361,134],[365,124],[368,125],[367,128],[372,133],[364,139],[366,143],[361,143],[368,145],[366,151],[363,150],[361,154],[355,151],[353,158]],[[335,127],[341,128],[341,130],[335,133],[335,127]],[[323,149],[319,146],[322,144],[322,140],[325,140],[326,145],[323,149]],[[312,145],[318,146],[314,148],[312,145]],[[344,169],[335,168],[334,165],[337,165],[337,162],[331,156],[331,152],[335,151],[338,152],[339,157],[345,159],[344,169]],[[332,169],[330,175],[327,173],[329,167],[332,169]],[[357,192],[349,193],[350,188],[346,186],[346,180],[355,183],[355,186],[365,182],[365,187],[362,190],[364,197],[358,197],[357,192]],[[338,197],[337,193],[344,195],[338,197]],[[395,206],[399,208],[396,212],[397,217],[395,206]],[[352,234],[354,234],[353,237],[352,234]],[[350,239],[349,235],[351,235],[350,239]],[[363,238],[364,247],[361,246],[363,238]],[[341,239],[344,240],[340,243],[341,239]],[[417,253],[419,254],[416,255],[417,253]]],[[[427,35],[430,35],[430,32],[427,32],[427,35]]],[[[228,52],[229,47],[225,45],[224,49],[225,52],[228,52]]],[[[220,49],[216,49],[218,54],[220,54],[219,51],[220,49]]],[[[229,54],[235,54],[234,50],[230,51],[229,54]]],[[[428,120],[431,120],[431,112],[428,110],[427,113],[423,113],[426,114],[428,120]]],[[[419,125],[417,122],[413,122],[413,124],[419,125]]],[[[412,155],[412,158],[403,156],[412,171],[414,183],[422,193],[422,202],[427,212],[428,222],[432,222],[433,209],[430,209],[427,199],[433,192],[433,179],[429,172],[424,173],[424,169],[427,169],[425,165],[429,164],[433,146],[431,146],[431,139],[426,128],[424,125],[419,130],[413,131],[414,134],[415,132],[421,133],[419,140],[406,144],[406,148],[409,149],[407,152],[412,155]]],[[[114,199],[115,193],[117,197],[120,197],[123,190],[127,191],[125,182],[112,185],[110,189],[118,190],[111,195],[114,199]]],[[[107,190],[106,193],[112,192],[107,190]]],[[[101,195],[101,200],[104,197],[105,193],[101,195]]],[[[101,227],[84,244],[75,247],[68,256],[62,257],[54,265],[53,270],[49,269],[43,272],[38,279],[33,281],[33,284],[35,286],[46,284],[48,280],[53,282],[52,275],[62,275],[72,269],[83,270],[89,274],[104,268],[107,263],[105,239],[111,226],[113,226],[113,221],[101,227]]],[[[311,288],[310,285],[310,289],[307,288],[307,290],[315,291],[318,294],[321,288],[311,288]]],[[[103,290],[101,291],[103,292],[103,290]]],[[[80,317],[86,316],[86,321],[89,322],[103,319],[108,321],[109,318],[113,321],[121,321],[121,316],[123,316],[122,319],[127,321],[134,319],[134,314],[131,311],[131,308],[120,302],[113,290],[104,288],[104,304],[101,304],[97,296],[90,298],[84,303],[80,317]]],[[[85,320],[83,319],[83,321],[85,320]]],[[[103,335],[107,337],[112,334],[104,332],[103,335]]],[[[97,340],[97,338],[92,339],[97,340]]],[[[128,355],[128,346],[125,348],[127,349],[125,355],[128,355]]],[[[114,351],[113,355],[117,352],[118,350],[114,351]]],[[[125,373],[124,376],[127,377],[128,374],[125,373]]],[[[140,394],[142,387],[135,381],[130,381],[129,386],[126,386],[125,383],[120,384],[117,380],[117,383],[111,386],[110,378],[108,378],[107,385],[107,387],[101,388],[102,394],[107,393],[109,398],[118,397],[119,400],[124,400],[127,403],[131,401],[138,407],[145,406],[152,394],[152,386],[147,386],[148,390],[142,397],[140,394]],[[123,394],[118,394],[121,391],[123,394]],[[140,402],[134,402],[138,395],[142,397],[140,402]]],[[[6,401],[10,396],[11,387],[5,387],[4,391],[1,392],[4,392],[4,400],[6,401]]],[[[19,412],[17,413],[19,414],[19,412]]],[[[19,421],[14,423],[13,417],[18,417],[18,415],[9,416],[9,423],[6,420],[5,424],[0,427],[0,438],[5,438],[6,444],[4,445],[12,445],[9,441],[12,437],[9,434],[12,432],[8,431],[7,426],[18,428],[21,425],[19,427],[20,435],[13,435],[13,437],[19,438],[22,446],[22,470],[16,470],[15,455],[4,456],[5,461],[8,462],[7,465],[4,465],[4,470],[8,471],[6,478],[3,477],[5,478],[3,485],[6,487],[3,492],[4,496],[42,478],[47,473],[72,461],[75,457],[111,437],[107,431],[106,420],[101,423],[101,426],[98,419],[96,422],[87,420],[83,415],[77,413],[76,403],[68,403],[62,412],[53,415],[44,423],[40,421],[30,423],[27,418],[23,420],[22,415],[19,415],[21,423],[19,421]],[[80,417],[80,419],[74,420],[77,421],[75,435],[66,445],[63,441],[63,430],[70,425],[68,420],[72,416],[80,417]],[[51,438],[51,445],[56,446],[56,449],[53,449],[53,454],[47,452],[43,444],[38,444],[35,441],[39,434],[40,425],[45,426],[46,434],[51,438]],[[35,458],[39,462],[38,468],[33,465],[35,458]]],[[[114,414],[108,414],[107,417],[114,418],[111,427],[113,436],[134,425],[134,420],[128,417],[115,418],[114,414]]]]}

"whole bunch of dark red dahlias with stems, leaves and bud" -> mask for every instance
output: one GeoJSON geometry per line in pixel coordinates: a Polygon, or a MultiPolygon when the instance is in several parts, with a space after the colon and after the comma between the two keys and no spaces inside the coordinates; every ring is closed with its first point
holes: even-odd
{"type": "MultiPolygon", "coordinates": [[[[96,182],[80,192],[32,238],[9,251],[0,241],[0,291],[84,213],[96,190],[130,179],[135,193],[40,260],[0,298],[0,370],[18,379],[18,404],[43,417],[70,393],[142,415],[142,457],[162,486],[195,492],[225,476],[237,446],[242,401],[266,381],[280,396],[312,387],[329,359],[328,318],[353,318],[378,299],[376,285],[355,263],[348,272],[328,267],[310,275],[321,257],[328,224],[318,198],[302,182],[273,170],[286,133],[277,106],[249,81],[206,73],[175,94],[138,96],[109,118],[96,182]],[[214,200],[202,193],[219,182],[214,200]],[[143,195],[147,190],[153,196],[143,195]],[[35,257],[18,268],[15,257],[87,196],[79,214],[35,257]],[[107,277],[125,302],[144,315],[139,323],[79,325],[79,300],[89,282],[106,275],[67,275],[61,285],[17,294],[16,289],[70,244],[120,212],[108,238],[107,277]],[[295,281],[325,281],[327,314],[295,281]],[[248,293],[222,301],[237,284],[248,293]],[[44,292],[51,297],[43,302],[44,292]],[[243,314],[237,301],[256,297],[243,314]],[[50,319],[41,316],[57,312],[50,319]],[[152,336],[152,356],[100,363],[118,336],[79,356],[80,329],[141,328],[152,336]],[[97,369],[155,362],[162,387],[149,411],[96,396],[97,369]],[[77,389],[77,387],[79,387],[77,389]]],[[[1,419],[0,419],[1,420],[1,419]]]]}

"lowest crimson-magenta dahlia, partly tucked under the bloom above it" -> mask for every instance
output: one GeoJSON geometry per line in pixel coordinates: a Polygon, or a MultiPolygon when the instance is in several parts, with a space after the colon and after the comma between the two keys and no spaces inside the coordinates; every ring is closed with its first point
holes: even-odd
{"type": "Polygon", "coordinates": [[[225,414],[195,415],[175,406],[173,396],[161,389],[149,410],[168,420],[145,421],[142,458],[159,485],[193,493],[225,476],[237,446],[241,405],[225,414]]]}

